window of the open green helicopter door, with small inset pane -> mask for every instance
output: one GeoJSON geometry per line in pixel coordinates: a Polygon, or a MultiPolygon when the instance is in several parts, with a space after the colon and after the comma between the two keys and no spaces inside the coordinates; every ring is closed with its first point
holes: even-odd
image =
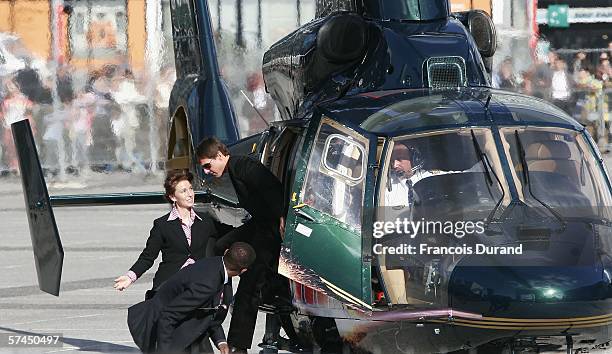
{"type": "Polygon", "coordinates": [[[348,129],[340,129],[331,121],[321,125],[308,162],[302,201],[360,230],[366,144],[348,129]]]}

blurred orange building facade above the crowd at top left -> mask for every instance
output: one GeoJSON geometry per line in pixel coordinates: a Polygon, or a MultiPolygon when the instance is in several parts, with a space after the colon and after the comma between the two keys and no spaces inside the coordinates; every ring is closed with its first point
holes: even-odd
{"type": "Polygon", "coordinates": [[[171,37],[169,0],[59,3],[54,12],[49,0],[0,0],[0,32],[17,35],[33,55],[45,60],[53,59],[51,38],[57,35],[60,60],[89,71],[109,64],[127,65],[136,71],[144,68],[147,4],[161,3],[163,37],[171,37]],[[57,16],[55,29],[52,16],[57,16]]]}

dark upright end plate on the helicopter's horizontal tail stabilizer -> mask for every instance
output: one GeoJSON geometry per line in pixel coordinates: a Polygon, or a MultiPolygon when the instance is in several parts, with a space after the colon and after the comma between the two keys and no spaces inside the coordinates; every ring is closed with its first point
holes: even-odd
{"type": "Polygon", "coordinates": [[[58,296],[64,249],[55,224],[30,122],[27,119],[15,122],[11,124],[11,130],[19,158],[38,286],[40,290],[58,296]]]}

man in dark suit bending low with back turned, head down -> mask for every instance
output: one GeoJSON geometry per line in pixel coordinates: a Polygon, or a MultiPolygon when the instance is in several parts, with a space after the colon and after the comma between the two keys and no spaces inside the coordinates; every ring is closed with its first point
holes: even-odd
{"type": "Polygon", "coordinates": [[[152,299],[128,309],[134,343],[145,353],[186,352],[194,345],[212,353],[210,336],[221,353],[228,354],[221,323],[231,301],[231,277],[244,273],[254,260],[253,248],[236,242],[223,257],[205,258],[181,269],[152,299]]]}

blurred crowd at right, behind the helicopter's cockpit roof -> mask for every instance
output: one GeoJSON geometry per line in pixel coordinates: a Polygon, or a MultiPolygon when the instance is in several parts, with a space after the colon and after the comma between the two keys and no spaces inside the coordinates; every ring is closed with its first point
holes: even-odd
{"type": "Polygon", "coordinates": [[[583,124],[600,148],[612,142],[612,42],[599,51],[549,51],[519,72],[512,58],[494,70],[493,86],[552,102],[583,124]]]}

